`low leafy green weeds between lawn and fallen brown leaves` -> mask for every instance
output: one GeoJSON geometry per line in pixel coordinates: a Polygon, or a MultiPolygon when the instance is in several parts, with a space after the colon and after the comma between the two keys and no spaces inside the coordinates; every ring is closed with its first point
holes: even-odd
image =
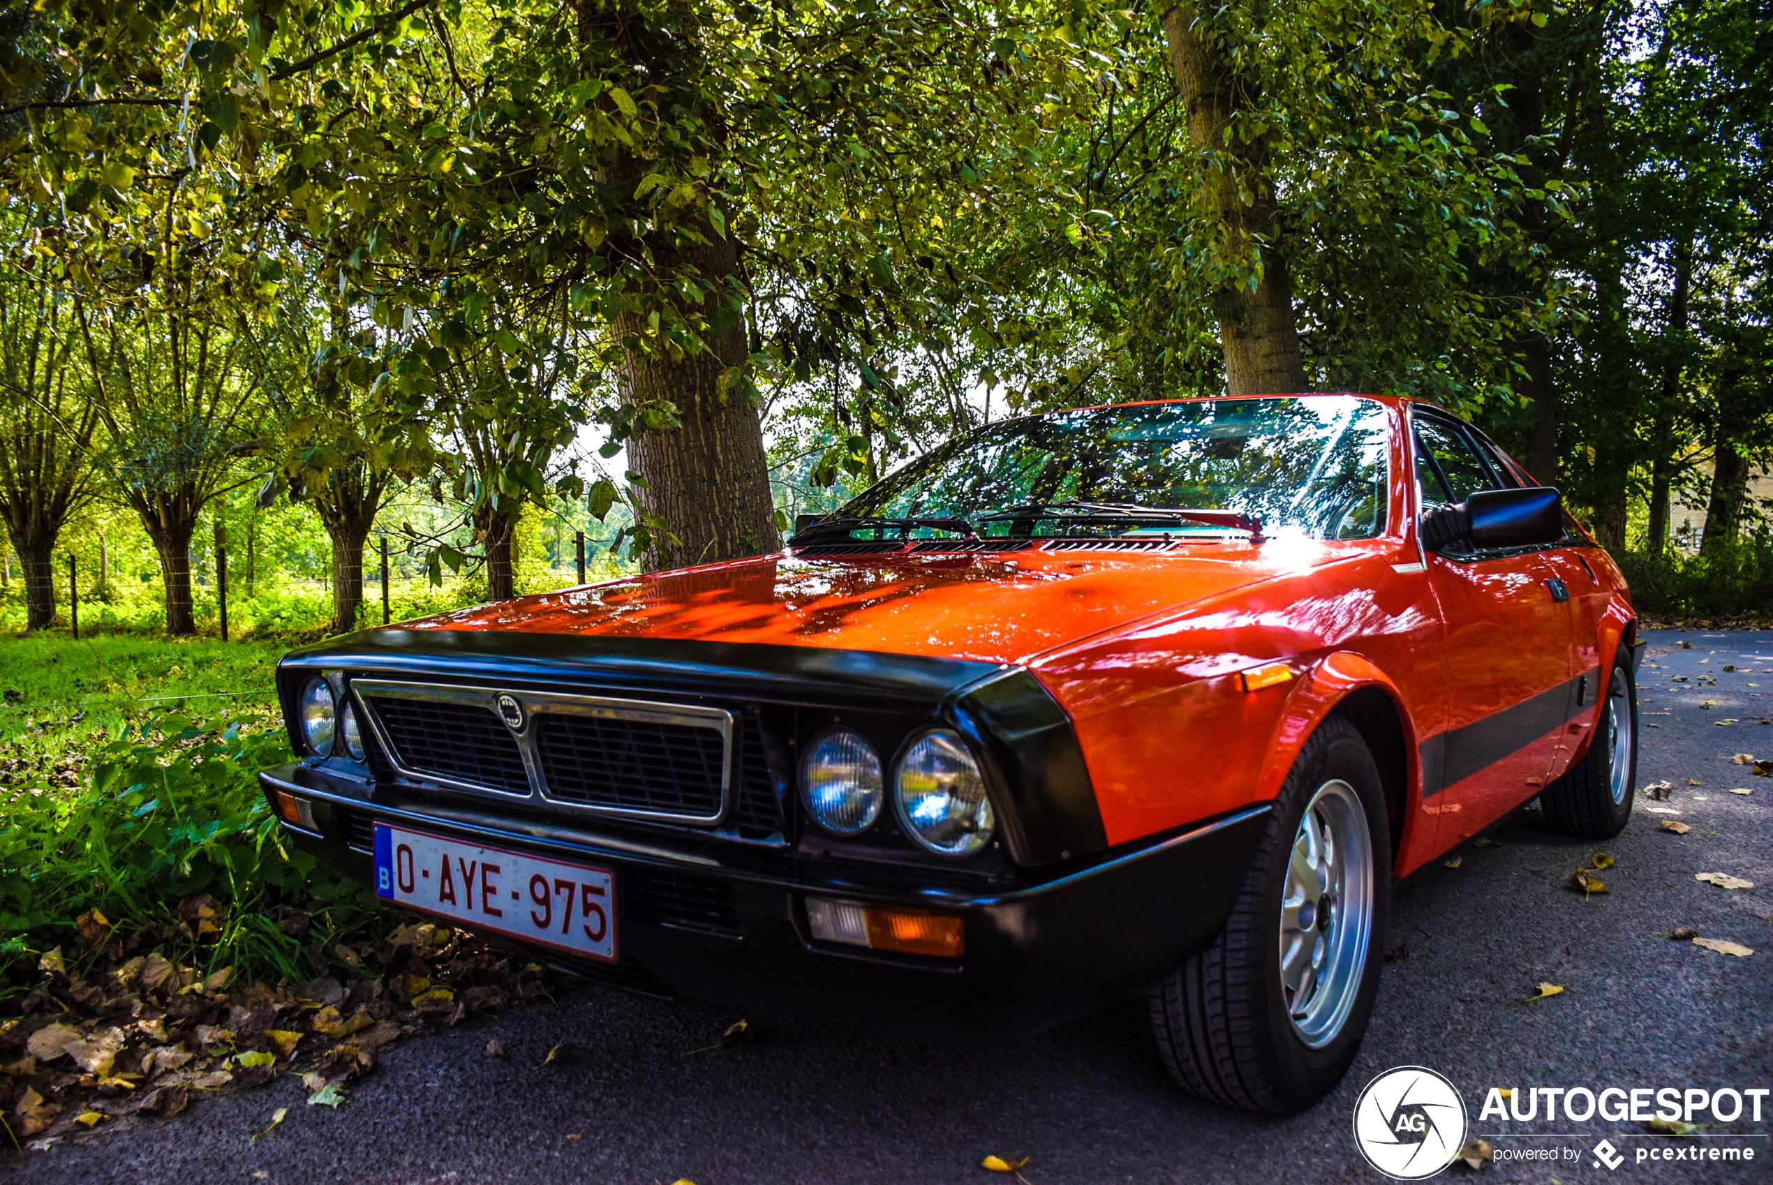
{"type": "MultiPolygon", "coordinates": [[[[14,790],[0,833],[0,967],[34,972],[57,946],[71,964],[96,958],[115,941],[206,971],[309,980],[324,964],[316,948],[378,905],[284,845],[255,771],[289,756],[287,733],[184,717],[156,728],[124,726],[74,794],[46,776],[14,790]],[[98,941],[103,923],[82,935],[78,921],[94,909],[110,923],[98,941]]],[[[0,994],[21,990],[7,980],[0,994]]]]}

